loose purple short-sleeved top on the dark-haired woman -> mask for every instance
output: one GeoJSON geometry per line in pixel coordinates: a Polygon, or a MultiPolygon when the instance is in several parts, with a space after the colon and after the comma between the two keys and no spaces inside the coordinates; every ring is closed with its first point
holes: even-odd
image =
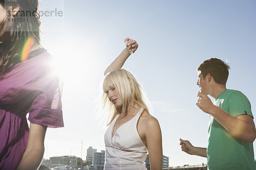
{"type": "Polygon", "coordinates": [[[48,127],[64,127],[62,86],[44,52],[20,62],[0,76],[0,170],[16,170],[25,152],[29,121],[48,127]]]}

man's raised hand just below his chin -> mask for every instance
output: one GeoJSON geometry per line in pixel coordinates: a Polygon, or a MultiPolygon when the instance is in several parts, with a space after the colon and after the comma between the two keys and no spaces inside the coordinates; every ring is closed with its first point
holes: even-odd
{"type": "Polygon", "coordinates": [[[200,91],[198,91],[198,94],[196,96],[198,97],[198,101],[195,105],[197,105],[198,108],[200,108],[205,113],[210,114],[212,111],[212,108],[215,107],[211,99],[207,95],[200,93],[200,91]]]}

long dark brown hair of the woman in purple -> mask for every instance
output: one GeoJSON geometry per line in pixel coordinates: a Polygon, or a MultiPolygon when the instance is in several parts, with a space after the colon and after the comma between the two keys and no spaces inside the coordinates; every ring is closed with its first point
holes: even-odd
{"type": "Polygon", "coordinates": [[[40,16],[37,13],[38,0],[0,0],[0,5],[6,10],[6,17],[0,23],[0,30],[9,19],[9,6],[18,6],[20,11],[36,11],[35,17],[23,16],[26,22],[12,22],[7,28],[8,37],[0,42],[0,75],[5,74],[10,65],[20,62],[20,54],[24,43],[29,37],[33,37],[40,45],[40,16]]]}

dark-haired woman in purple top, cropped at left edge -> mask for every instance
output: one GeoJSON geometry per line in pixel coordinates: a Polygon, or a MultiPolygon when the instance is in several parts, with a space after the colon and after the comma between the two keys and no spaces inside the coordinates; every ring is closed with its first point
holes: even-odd
{"type": "Polygon", "coordinates": [[[47,127],[64,126],[62,89],[40,45],[37,9],[38,0],[0,0],[0,170],[36,170],[47,127]]]}

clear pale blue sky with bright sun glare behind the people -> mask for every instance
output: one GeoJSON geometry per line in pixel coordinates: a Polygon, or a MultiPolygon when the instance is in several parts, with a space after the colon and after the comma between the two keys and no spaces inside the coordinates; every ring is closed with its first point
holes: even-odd
{"type": "MultiPolygon", "coordinates": [[[[160,123],[170,166],[206,163],[181,151],[179,138],[207,146],[209,115],[196,105],[196,68],[217,57],[231,67],[227,88],[242,91],[256,115],[256,1],[254,0],[42,0],[42,44],[64,79],[64,128],[47,129],[44,158],[105,150],[96,119],[105,68],[125,48],[139,48],[123,68],[143,85],[160,123]]],[[[256,148],[254,142],[254,148],[256,148]]],[[[256,152],[254,152],[256,153],[256,152]]]]}

